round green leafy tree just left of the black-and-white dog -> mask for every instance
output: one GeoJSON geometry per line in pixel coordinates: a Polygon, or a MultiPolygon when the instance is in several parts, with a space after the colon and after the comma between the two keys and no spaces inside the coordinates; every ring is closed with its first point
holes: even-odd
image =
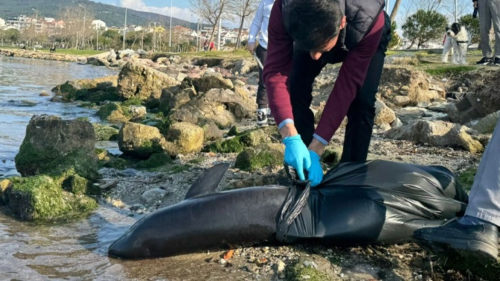
{"type": "Polygon", "coordinates": [[[446,23],[446,17],[439,12],[418,10],[406,19],[403,36],[411,41],[410,47],[416,43],[419,49],[422,44],[441,38],[446,23]]]}

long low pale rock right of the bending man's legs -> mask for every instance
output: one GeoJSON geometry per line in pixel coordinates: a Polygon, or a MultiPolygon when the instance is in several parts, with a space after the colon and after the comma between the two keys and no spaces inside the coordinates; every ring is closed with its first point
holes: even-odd
{"type": "Polygon", "coordinates": [[[482,145],[472,139],[466,126],[444,121],[414,121],[403,127],[388,130],[385,136],[397,140],[428,143],[435,146],[460,145],[470,152],[482,150],[482,145]],[[479,147],[481,146],[481,147],[479,147]]]}

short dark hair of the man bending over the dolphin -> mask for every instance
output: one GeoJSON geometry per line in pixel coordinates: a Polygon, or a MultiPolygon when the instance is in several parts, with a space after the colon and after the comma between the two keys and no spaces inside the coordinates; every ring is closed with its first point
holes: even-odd
{"type": "Polygon", "coordinates": [[[296,47],[320,50],[339,34],[344,14],[335,0],[289,0],[283,21],[296,47]]]}

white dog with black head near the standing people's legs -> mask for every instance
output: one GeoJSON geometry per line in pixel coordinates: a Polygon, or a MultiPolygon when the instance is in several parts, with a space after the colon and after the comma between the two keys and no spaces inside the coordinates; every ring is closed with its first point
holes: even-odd
{"type": "Polygon", "coordinates": [[[469,32],[460,23],[446,26],[446,39],[442,61],[448,63],[448,55],[452,52],[451,61],[455,64],[466,64],[466,54],[469,46],[469,32]]]}

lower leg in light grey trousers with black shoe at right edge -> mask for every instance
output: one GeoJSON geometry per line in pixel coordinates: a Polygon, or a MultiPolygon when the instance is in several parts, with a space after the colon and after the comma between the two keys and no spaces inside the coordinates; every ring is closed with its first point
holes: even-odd
{"type": "Polygon", "coordinates": [[[418,229],[415,242],[435,253],[485,262],[498,257],[500,226],[500,121],[479,162],[466,216],[441,227],[418,229]]]}

